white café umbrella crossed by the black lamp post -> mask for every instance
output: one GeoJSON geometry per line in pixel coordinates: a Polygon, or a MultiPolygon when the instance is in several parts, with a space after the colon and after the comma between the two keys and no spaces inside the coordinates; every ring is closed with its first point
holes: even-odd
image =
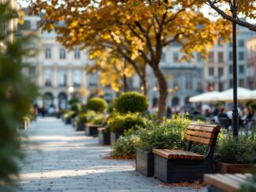
{"type": "MultiPolygon", "coordinates": [[[[248,96],[251,94],[250,89],[245,89],[242,87],[237,88],[237,99],[243,100],[243,96],[248,96]]],[[[224,92],[221,92],[221,94],[218,96],[219,101],[232,101],[233,100],[233,89],[225,90],[224,92]]]]}

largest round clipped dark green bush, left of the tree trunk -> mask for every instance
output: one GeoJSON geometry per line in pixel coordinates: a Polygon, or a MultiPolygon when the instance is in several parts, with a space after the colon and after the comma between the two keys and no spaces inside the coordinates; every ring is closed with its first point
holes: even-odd
{"type": "Polygon", "coordinates": [[[114,100],[114,108],[122,114],[141,113],[148,109],[148,100],[138,92],[123,92],[119,98],[114,100]]]}

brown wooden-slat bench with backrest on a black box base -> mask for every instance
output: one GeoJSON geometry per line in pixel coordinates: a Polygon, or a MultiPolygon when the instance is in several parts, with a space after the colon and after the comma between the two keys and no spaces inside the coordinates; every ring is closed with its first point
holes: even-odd
{"type": "Polygon", "coordinates": [[[214,148],[220,129],[219,125],[189,125],[186,150],[153,149],[155,177],[166,183],[194,182],[203,180],[204,173],[214,172],[214,148]],[[193,143],[207,145],[207,154],[192,153],[193,143]]]}

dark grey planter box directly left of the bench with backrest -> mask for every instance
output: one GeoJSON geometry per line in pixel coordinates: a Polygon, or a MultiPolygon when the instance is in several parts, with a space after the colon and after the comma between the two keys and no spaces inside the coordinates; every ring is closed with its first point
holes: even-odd
{"type": "Polygon", "coordinates": [[[154,154],[136,149],[136,171],[144,176],[154,176],[154,154]]]}

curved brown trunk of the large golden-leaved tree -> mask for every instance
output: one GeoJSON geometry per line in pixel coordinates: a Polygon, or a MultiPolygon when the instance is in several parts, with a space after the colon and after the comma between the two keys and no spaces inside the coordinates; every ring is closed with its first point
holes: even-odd
{"type": "Polygon", "coordinates": [[[163,72],[159,69],[159,67],[153,67],[155,77],[157,78],[159,84],[159,101],[158,101],[158,121],[163,120],[163,116],[166,113],[166,100],[168,96],[168,85],[166,82],[166,78],[163,75],[163,72]]]}

